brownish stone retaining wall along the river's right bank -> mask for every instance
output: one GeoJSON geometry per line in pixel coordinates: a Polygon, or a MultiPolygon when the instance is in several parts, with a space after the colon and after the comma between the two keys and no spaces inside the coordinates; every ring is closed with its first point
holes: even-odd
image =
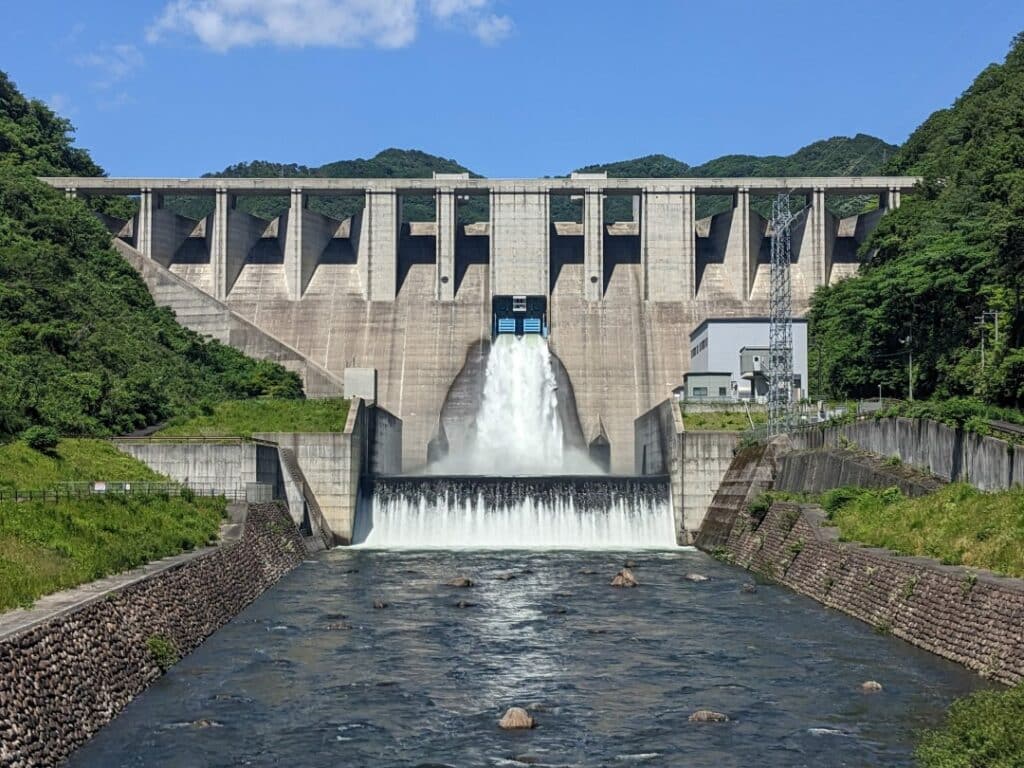
{"type": "Polygon", "coordinates": [[[817,507],[741,512],[719,556],[1004,683],[1024,680],[1024,583],[836,541],[817,507]]]}

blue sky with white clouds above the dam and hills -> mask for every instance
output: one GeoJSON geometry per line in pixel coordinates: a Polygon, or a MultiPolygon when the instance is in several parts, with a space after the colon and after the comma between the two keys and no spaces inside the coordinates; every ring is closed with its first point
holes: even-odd
{"type": "Polygon", "coordinates": [[[4,0],[0,69],[112,175],[422,148],[488,176],[901,142],[1020,0],[4,0]]]}

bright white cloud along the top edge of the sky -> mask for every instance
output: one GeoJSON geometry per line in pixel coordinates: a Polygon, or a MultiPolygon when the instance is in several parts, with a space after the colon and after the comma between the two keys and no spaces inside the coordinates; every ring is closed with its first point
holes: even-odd
{"type": "Polygon", "coordinates": [[[493,0],[171,0],[146,31],[157,42],[191,35],[217,51],[270,44],[401,48],[418,31],[419,5],[430,17],[464,29],[486,45],[512,31],[512,19],[490,12],[493,0]]]}

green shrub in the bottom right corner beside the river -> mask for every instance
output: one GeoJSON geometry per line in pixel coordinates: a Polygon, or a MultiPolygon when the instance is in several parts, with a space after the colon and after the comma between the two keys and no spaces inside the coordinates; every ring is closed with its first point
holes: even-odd
{"type": "Polygon", "coordinates": [[[945,724],[927,731],[915,757],[921,768],[1024,766],[1024,685],[985,690],[954,701],[945,724]]]}

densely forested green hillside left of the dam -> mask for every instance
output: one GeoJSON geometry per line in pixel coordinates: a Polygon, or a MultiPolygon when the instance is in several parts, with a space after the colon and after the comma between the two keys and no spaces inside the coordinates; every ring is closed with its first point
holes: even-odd
{"type": "Polygon", "coordinates": [[[105,435],[228,397],[301,395],[294,374],[178,326],[85,203],[36,180],[101,173],[71,130],[0,72],[0,440],[32,426],[105,435]]]}

